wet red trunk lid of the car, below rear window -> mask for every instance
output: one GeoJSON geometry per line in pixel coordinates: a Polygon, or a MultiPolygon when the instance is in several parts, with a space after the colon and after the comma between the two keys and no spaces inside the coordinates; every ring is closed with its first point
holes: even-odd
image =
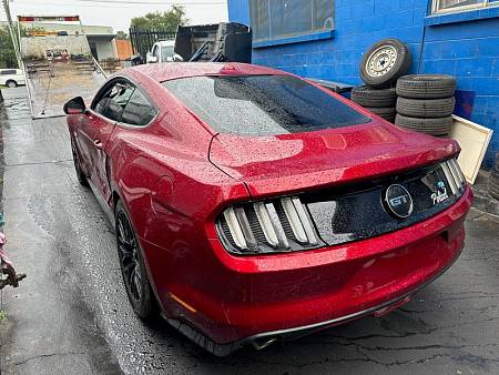
{"type": "Polygon", "coordinates": [[[374,121],[274,136],[214,136],[210,160],[252,196],[294,193],[408,171],[450,158],[455,141],[374,121]]]}

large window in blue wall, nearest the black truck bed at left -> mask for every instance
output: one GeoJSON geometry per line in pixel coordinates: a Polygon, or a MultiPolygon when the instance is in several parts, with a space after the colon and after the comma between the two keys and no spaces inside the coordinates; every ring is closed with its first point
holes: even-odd
{"type": "Polygon", "coordinates": [[[335,0],[249,0],[255,42],[334,30],[335,0]]]}

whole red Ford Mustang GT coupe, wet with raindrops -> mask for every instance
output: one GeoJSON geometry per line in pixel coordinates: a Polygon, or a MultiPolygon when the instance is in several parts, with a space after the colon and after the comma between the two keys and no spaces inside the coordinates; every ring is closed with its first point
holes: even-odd
{"type": "Polygon", "coordinates": [[[64,110],[135,313],[215,355],[386,314],[464,246],[458,144],[298,77],[151,64],[64,110]]]}

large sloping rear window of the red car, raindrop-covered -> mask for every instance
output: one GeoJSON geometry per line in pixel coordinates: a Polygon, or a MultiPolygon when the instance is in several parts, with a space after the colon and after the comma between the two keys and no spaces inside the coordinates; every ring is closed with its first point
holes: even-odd
{"type": "Polygon", "coordinates": [[[277,135],[370,121],[291,75],[192,77],[165,81],[163,85],[221,133],[277,135]]]}

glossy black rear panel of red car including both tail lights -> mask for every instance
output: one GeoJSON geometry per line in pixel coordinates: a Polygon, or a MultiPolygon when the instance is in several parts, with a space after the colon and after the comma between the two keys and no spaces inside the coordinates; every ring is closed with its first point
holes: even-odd
{"type": "MultiPolygon", "coordinates": [[[[383,234],[395,229],[401,229],[418,222],[427,212],[439,212],[439,206],[436,206],[435,202],[428,203],[429,193],[435,191],[434,184],[436,182],[438,182],[439,189],[442,186],[447,189],[448,195],[446,194],[446,199],[442,200],[444,203],[440,205],[442,209],[446,204],[452,204],[451,202],[464,193],[466,179],[456,159],[439,163],[434,168],[434,171],[437,171],[438,174],[432,179],[426,180],[425,176],[420,176],[419,180],[405,182],[407,189],[415,193],[418,199],[419,216],[413,215],[400,223],[383,222],[386,217],[386,211],[383,204],[379,204],[378,194],[381,194],[384,188],[375,185],[371,190],[354,191],[347,195],[335,193],[330,196],[330,200],[328,194],[315,200],[304,193],[301,197],[287,196],[264,202],[237,204],[226,209],[217,219],[218,236],[230,253],[252,255],[337,245],[367,239],[375,233],[383,234]],[[415,181],[420,181],[420,184],[418,185],[415,181]],[[440,186],[440,184],[442,185],[440,186]],[[355,199],[360,194],[364,194],[361,202],[370,203],[370,207],[368,205],[359,207],[358,204],[355,204],[355,199]],[[365,210],[369,210],[371,213],[376,210],[383,210],[377,213],[377,216],[373,216],[378,217],[381,222],[366,221],[364,217],[359,217],[360,212],[366,212],[365,210]]],[[[317,196],[315,197],[317,199],[317,196]]],[[[388,219],[390,217],[388,216],[388,219]]]]}

